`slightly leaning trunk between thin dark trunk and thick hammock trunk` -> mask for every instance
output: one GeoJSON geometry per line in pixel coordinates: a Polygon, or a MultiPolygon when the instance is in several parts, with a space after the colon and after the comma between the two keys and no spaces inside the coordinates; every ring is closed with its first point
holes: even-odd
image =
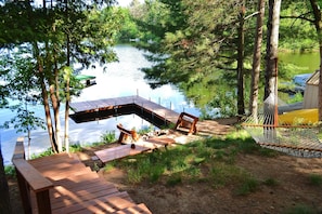
{"type": "Polygon", "coordinates": [[[262,44],[262,26],[265,18],[265,1],[258,0],[258,14],[256,23],[256,36],[253,54],[252,85],[249,98],[249,115],[257,119],[258,115],[258,83],[260,75],[261,44],[262,44]]]}

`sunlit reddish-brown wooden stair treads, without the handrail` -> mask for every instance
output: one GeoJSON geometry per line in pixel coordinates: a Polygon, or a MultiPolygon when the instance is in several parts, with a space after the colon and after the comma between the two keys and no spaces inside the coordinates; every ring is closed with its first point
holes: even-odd
{"type": "MultiPolygon", "coordinates": [[[[29,163],[53,184],[52,213],[151,213],[144,204],[136,204],[126,191],[119,191],[67,153],[29,163]]],[[[33,198],[33,213],[38,213],[36,197],[33,198]]]]}

